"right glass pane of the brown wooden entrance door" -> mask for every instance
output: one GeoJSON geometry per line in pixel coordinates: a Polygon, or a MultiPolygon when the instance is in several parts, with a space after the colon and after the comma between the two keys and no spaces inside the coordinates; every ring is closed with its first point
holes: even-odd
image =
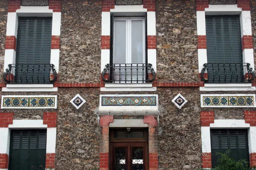
{"type": "Polygon", "coordinates": [[[132,170],[143,170],[143,148],[132,148],[132,170]]]}

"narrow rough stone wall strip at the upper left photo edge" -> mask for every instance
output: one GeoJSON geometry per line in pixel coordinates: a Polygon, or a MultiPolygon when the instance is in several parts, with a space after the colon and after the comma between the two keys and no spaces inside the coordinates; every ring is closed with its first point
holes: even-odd
{"type": "Polygon", "coordinates": [[[8,0],[0,0],[0,71],[3,72],[3,62],[6,40],[6,23],[8,12],[8,0]]]}

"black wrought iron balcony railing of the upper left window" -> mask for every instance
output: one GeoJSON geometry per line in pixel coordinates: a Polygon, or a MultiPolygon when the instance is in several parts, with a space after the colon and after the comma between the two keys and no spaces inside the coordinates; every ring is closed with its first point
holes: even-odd
{"type": "Polygon", "coordinates": [[[57,80],[53,64],[9,64],[3,74],[7,83],[46,84],[57,80]],[[12,76],[14,75],[14,76],[12,76]]]}

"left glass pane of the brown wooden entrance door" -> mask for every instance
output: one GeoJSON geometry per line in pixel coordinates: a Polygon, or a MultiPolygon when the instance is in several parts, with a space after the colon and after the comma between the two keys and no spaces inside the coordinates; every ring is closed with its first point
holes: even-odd
{"type": "Polygon", "coordinates": [[[114,170],[125,170],[125,148],[115,148],[114,170]]]}

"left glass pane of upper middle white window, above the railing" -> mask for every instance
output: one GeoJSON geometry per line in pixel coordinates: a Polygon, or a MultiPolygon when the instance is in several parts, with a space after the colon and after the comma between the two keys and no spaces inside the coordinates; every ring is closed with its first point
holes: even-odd
{"type": "Polygon", "coordinates": [[[114,63],[126,63],[126,21],[114,22],[114,63]]]}

